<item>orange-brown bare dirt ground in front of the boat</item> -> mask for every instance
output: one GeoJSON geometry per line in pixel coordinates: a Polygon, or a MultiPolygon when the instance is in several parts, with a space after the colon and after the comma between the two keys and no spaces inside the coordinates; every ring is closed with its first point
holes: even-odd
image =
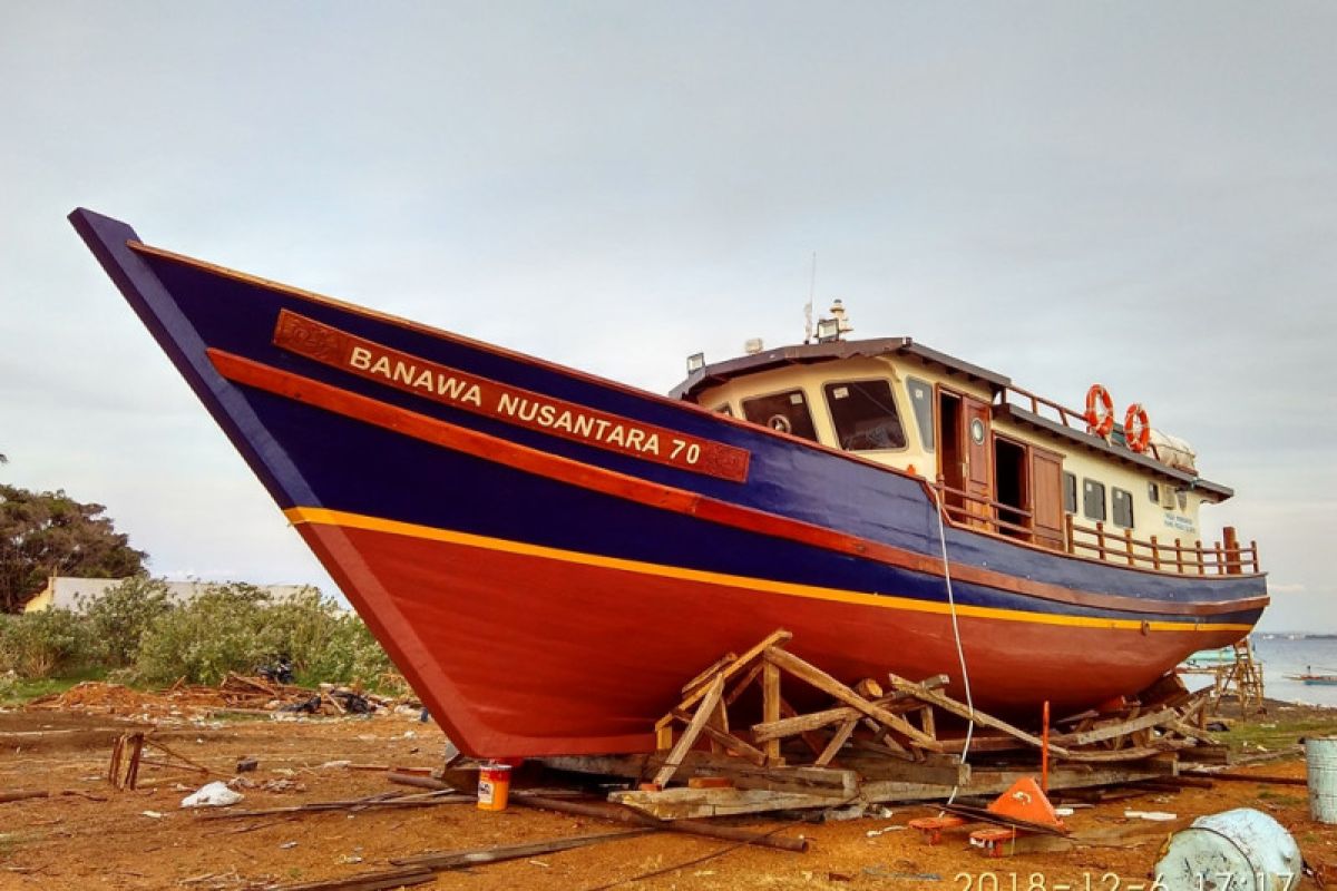
{"type": "MultiPolygon", "coordinates": [[[[151,739],[226,775],[234,775],[238,759],[254,757],[258,769],[245,773],[251,787],[241,789],[245,800],[231,810],[257,810],[413,792],[390,785],[381,772],[332,763],[433,768],[444,736],[412,713],[279,721],[267,716],[136,719],[128,711],[0,711],[0,796],[19,789],[52,793],[0,803],[0,888],[266,888],[384,870],[397,856],[624,828],[527,808],[484,812],[457,803],[210,819],[223,811],[180,807],[182,797],[203,781],[187,771],[144,765],[139,789],[114,789],[106,779],[112,741],[136,727],[155,728],[151,739]]],[[[1332,715],[1337,732],[1337,712],[1332,715]]],[[[1292,756],[1243,769],[1304,776],[1305,768],[1292,756]]],[[[1234,807],[1273,815],[1310,864],[1337,864],[1337,827],[1309,818],[1304,787],[1217,781],[1211,789],[1147,792],[1080,808],[1068,818],[1075,839],[1070,850],[1005,859],[985,858],[967,844],[965,835],[928,847],[905,823],[933,811],[893,806],[889,816],[824,824],[737,822],[804,835],[812,843],[806,854],[655,832],[441,872],[435,883],[418,887],[1148,888],[1159,848],[1173,831],[1197,816],[1234,807]],[[1152,823],[1126,818],[1127,810],[1177,818],[1152,823]],[[670,867],[681,868],[639,878],[670,867]],[[996,876],[996,886],[989,875],[996,876]]],[[[1318,886],[1306,879],[1301,887],[1318,886]]]]}

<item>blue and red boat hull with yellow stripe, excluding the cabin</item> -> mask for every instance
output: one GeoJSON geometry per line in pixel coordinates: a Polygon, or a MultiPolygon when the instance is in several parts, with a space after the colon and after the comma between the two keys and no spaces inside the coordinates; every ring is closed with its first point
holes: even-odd
{"type": "Polygon", "coordinates": [[[968,673],[987,709],[1079,709],[1266,602],[1261,576],[944,525],[908,474],[72,219],[472,755],[647,751],[685,679],[777,628],[848,681],[964,696],[968,673]]]}

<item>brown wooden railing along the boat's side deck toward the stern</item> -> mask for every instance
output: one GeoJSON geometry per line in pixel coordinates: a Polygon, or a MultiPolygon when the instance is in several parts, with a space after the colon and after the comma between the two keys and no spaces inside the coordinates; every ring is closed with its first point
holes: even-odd
{"type": "Polygon", "coordinates": [[[1259,572],[1258,542],[1241,545],[1234,526],[1222,530],[1222,541],[1203,544],[1163,542],[1157,536],[1134,538],[1132,529],[1110,532],[1103,522],[1087,526],[1066,513],[1064,528],[1046,534],[1034,526],[1034,514],[992,498],[976,496],[947,485],[943,477],[933,484],[943,513],[953,525],[975,526],[1008,536],[1032,545],[1063,550],[1106,562],[1178,573],[1181,576],[1238,576],[1259,572]],[[1007,520],[1003,516],[1008,517],[1007,520]],[[1062,536],[1062,537],[1060,537],[1062,536]]]}

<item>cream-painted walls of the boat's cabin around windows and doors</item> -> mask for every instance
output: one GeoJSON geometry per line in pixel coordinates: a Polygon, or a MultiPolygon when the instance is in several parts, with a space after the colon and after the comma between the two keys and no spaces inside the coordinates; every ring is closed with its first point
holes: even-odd
{"type": "MultiPolygon", "coordinates": [[[[936,452],[927,452],[923,448],[924,439],[910,405],[909,391],[905,386],[906,377],[916,377],[927,383],[939,385],[956,393],[965,393],[985,402],[992,402],[992,393],[988,385],[980,381],[968,381],[960,374],[947,374],[935,366],[923,365],[917,359],[898,357],[896,361],[892,361],[886,357],[880,357],[848,359],[838,365],[796,365],[747,375],[746,378],[729,381],[721,386],[703,390],[701,405],[709,409],[718,409],[721,405],[727,403],[734,417],[743,418],[743,398],[801,389],[813,414],[813,426],[818,439],[824,445],[838,448],[822,386],[834,381],[889,378],[908,445],[897,450],[860,452],[857,454],[901,470],[913,468],[920,476],[935,480],[937,476],[937,456],[936,452]]],[[[935,405],[935,411],[936,407],[935,405]]],[[[1123,534],[1123,528],[1114,524],[1114,488],[1118,486],[1132,496],[1132,536],[1135,538],[1148,541],[1151,536],[1155,536],[1157,541],[1165,545],[1174,544],[1174,540],[1179,538],[1185,545],[1191,545],[1199,538],[1213,541],[1219,537],[1219,530],[1213,532],[1210,536],[1202,532],[1199,508],[1206,500],[1201,496],[1190,492],[1183,510],[1178,505],[1167,510],[1159,502],[1152,502],[1147,494],[1147,484],[1165,482],[1161,478],[1152,477],[1130,465],[1102,458],[1084,449],[1075,449],[1070,442],[1038,433],[1031,427],[1007,421],[997,421],[992,426],[995,433],[1063,456],[1063,470],[1075,474],[1078,478],[1078,510],[1074,517],[1078,525],[1092,526],[1095,524],[1095,521],[1087,520],[1082,510],[1083,481],[1094,480],[1106,486],[1104,528],[1107,533],[1123,534]]]]}

